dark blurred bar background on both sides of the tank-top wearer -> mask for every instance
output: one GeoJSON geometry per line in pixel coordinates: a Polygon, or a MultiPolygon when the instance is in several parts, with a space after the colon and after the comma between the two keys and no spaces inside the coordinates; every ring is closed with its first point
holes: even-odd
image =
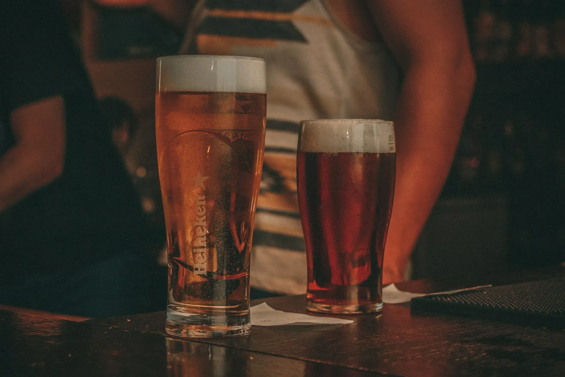
{"type": "MultiPolygon", "coordinates": [[[[182,33],[144,7],[60,0],[162,253],[155,57],[182,33]]],[[[412,279],[565,261],[565,0],[465,0],[477,85],[412,279]]],[[[408,277],[408,276],[407,276],[408,277]]]]}

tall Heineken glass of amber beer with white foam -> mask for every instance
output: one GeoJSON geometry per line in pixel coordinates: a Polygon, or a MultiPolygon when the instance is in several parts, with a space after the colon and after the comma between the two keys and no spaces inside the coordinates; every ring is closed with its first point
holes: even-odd
{"type": "Polygon", "coordinates": [[[167,226],[166,331],[250,330],[249,262],[266,125],[262,59],[157,59],[155,127],[167,226]]]}

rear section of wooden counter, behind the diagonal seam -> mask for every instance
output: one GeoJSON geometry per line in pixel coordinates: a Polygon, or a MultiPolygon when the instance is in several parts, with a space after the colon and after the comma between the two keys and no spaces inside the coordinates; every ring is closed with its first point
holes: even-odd
{"type": "MultiPolygon", "coordinates": [[[[398,285],[407,291],[438,292],[563,276],[564,270],[398,285]]],[[[304,296],[256,300],[253,304],[263,301],[275,309],[306,313],[304,296]]],[[[398,376],[565,375],[563,330],[454,315],[416,315],[410,313],[409,304],[385,304],[382,315],[341,317],[355,322],[254,326],[246,337],[198,342],[398,376]]],[[[163,335],[164,320],[163,311],[87,322],[163,335]]]]}

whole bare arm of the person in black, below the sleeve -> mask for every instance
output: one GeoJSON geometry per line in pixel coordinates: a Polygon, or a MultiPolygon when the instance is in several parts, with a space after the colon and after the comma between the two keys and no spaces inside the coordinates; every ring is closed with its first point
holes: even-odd
{"type": "Polygon", "coordinates": [[[29,103],[14,110],[16,144],[0,157],[0,212],[63,172],[66,144],[63,97],[29,103]]]}

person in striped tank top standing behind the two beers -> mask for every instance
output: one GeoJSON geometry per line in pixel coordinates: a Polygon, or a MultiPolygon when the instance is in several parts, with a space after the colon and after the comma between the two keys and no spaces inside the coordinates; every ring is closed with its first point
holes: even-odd
{"type": "Polygon", "coordinates": [[[383,283],[403,280],[449,172],[475,83],[460,1],[98,2],[145,5],[177,27],[188,23],[181,54],[266,60],[267,134],[251,257],[254,288],[306,290],[296,194],[298,122],[394,120],[397,178],[383,283]]]}

